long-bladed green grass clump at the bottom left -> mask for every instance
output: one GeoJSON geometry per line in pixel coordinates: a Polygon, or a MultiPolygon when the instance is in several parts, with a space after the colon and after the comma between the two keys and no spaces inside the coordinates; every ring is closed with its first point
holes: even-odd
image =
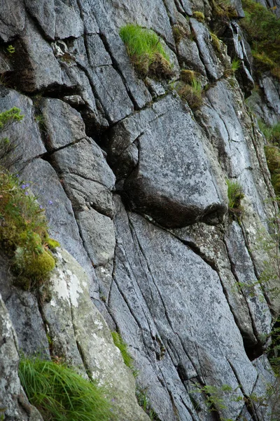
{"type": "Polygon", "coordinates": [[[19,376],[29,402],[45,421],[116,420],[105,390],[61,363],[23,358],[19,376]]]}

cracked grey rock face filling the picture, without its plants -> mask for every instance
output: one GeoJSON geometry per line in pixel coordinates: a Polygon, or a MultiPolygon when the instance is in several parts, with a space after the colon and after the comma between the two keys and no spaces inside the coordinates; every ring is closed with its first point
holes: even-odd
{"type": "Polygon", "coordinates": [[[0,20],[0,112],[25,115],[0,138],[18,142],[13,169],[62,246],[35,294],[16,286],[2,245],[0,419],[42,419],[18,377],[20,352],[41,352],[109,387],[119,421],[152,409],[160,421],[270,421],[278,210],[248,104],[276,123],[280,89],[265,72],[251,95],[239,21],[200,0],[10,0],[0,20]],[[119,35],[128,23],[160,36],[173,79],[139,78],[119,35]],[[176,91],[182,69],[204,89],[200,107],[176,91]],[[244,192],[230,212],[228,180],[244,192]]]}

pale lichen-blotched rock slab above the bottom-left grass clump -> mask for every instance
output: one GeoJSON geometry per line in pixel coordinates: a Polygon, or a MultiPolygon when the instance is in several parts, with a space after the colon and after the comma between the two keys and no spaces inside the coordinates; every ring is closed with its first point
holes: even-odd
{"type": "Polygon", "coordinates": [[[109,388],[118,420],[148,421],[148,415],[137,405],[134,377],[90,300],[87,276],[65,250],[57,250],[52,284],[53,298],[44,308],[51,316],[50,334],[53,331],[56,343],[62,345],[66,361],[79,359],[80,353],[90,377],[109,388]]]}

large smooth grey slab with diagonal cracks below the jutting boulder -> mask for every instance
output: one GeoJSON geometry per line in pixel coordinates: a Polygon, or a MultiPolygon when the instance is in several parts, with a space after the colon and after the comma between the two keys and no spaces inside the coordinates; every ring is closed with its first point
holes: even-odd
{"type": "MultiPolygon", "coordinates": [[[[167,382],[179,418],[188,420],[193,410],[190,401],[187,403],[188,395],[180,388],[182,376],[186,380],[201,376],[207,385],[226,383],[235,388],[244,384],[252,391],[257,373],[244,352],[216,272],[165,230],[133,213],[127,218],[121,208],[117,215],[118,241],[109,306],[120,332],[132,346],[141,379],[150,379],[148,396],[156,412],[172,420],[170,415],[163,415],[169,413],[168,403],[164,400],[159,405],[155,399],[158,387],[164,389],[162,385],[167,382]],[[125,313],[122,301],[126,302],[125,313]],[[133,328],[135,323],[141,326],[141,334],[133,328]],[[141,364],[143,347],[150,364],[141,364]],[[158,379],[151,376],[150,366],[160,370],[158,379]],[[172,366],[181,377],[169,382],[167,378],[174,378],[172,366]],[[186,402],[184,410],[181,399],[186,402]]],[[[243,403],[229,399],[226,406],[223,416],[235,419],[243,403]]]]}

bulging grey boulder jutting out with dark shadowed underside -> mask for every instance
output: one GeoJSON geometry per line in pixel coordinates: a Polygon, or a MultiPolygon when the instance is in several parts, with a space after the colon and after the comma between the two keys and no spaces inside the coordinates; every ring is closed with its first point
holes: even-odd
{"type": "MultiPolygon", "coordinates": [[[[146,127],[142,124],[149,113],[144,112],[143,120],[141,113],[138,115],[136,127],[142,128],[137,138],[139,160],[124,185],[130,206],[168,227],[223,215],[225,205],[211,178],[199,126],[181,102],[170,96],[157,102],[153,111],[155,117],[146,127]]],[[[125,142],[130,142],[132,136],[129,134],[125,142]]],[[[114,142],[111,145],[112,153],[114,142]]]]}

